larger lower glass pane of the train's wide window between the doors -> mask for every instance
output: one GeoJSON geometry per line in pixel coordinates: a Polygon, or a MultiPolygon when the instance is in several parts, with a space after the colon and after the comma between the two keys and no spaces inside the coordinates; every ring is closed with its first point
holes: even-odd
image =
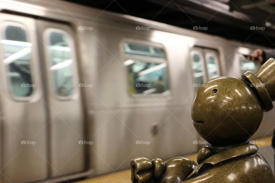
{"type": "Polygon", "coordinates": [[[169,94],[166,63],[152,63],[129,59],[124,62],[128,70],[128,87],[131,94],[169,94]]]}

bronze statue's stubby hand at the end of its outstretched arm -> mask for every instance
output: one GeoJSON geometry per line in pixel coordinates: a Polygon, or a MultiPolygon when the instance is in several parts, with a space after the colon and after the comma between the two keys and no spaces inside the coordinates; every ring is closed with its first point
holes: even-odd
{"type": "Polygon", "coordinates": [[[163,173],[164,164],[159,158],[152,161],[147,158],[131,160],[131,181],[134,183],[148,183],[157,181],[163,173]]]}

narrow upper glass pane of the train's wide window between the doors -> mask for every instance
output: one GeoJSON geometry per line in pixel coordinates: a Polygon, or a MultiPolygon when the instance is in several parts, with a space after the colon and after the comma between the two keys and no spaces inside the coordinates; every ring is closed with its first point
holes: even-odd
{"type": "Polygon", "coordinates": [[[126,43],[124,45],[124,53],[127,56],[137,55],[157,58],[165,57],[164,50],[161,48],[126,43]]]}

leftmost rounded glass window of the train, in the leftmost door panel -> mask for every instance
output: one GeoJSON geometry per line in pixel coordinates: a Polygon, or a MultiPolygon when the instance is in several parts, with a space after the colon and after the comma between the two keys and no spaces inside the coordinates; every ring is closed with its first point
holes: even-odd
{"type": "Polygon", "coordinates": [[[9,91],[13,96],[25,97],[32,94],[35,84],[31,77],[32,43],[27,41],[25,30],[21,27],[7,26],[3,46],[3,62],[6,66],[6,75],[9,91]]]}

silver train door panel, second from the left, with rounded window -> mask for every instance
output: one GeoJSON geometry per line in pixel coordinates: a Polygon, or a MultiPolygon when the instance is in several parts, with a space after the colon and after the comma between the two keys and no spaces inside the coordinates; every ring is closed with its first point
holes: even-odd
{"type": "Polygon", "coordinates": [[[50,176],[81,172],[85,169],[85,141],[74,42],[77,36],[62,23],[36,23],[47,88],[50,176]]]}

